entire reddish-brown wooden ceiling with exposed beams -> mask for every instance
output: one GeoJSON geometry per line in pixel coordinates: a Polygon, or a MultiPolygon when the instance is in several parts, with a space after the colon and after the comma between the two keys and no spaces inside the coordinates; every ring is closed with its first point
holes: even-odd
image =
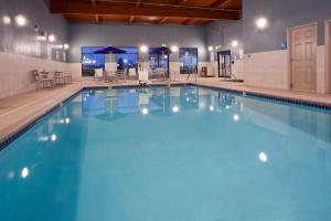
{"type": "Polygon", "coordinates": [[[50,0],[50,11],[77,22],[200,25],[239,20],[242,0],[50,0]]]}

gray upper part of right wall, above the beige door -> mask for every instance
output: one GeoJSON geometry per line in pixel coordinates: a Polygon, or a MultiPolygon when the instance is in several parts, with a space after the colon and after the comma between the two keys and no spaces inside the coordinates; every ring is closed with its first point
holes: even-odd
{"type": "Polygon", "coordinates": [[[232,39],[238,39],[245,53],[280,50],[287,40],[287,28],[319,22],[319,44],[324,42],[324,20],[331,19],[330,0],[243,0],[243,21],[207,25],[207,44],[228,48],[232,39]],[[255,27],[258,17],[266,17],[270,27],[259,31],[255,27]],[[224,29],[223,36],[217,29],[224,29]],[[224,41],[222,42],[222,38],[224,41]]]}

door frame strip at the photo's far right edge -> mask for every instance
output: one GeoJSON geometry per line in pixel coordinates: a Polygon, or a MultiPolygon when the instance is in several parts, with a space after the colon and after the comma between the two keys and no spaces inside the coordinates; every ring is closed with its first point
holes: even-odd
{"type": "Polygon", "coordinates": [[[325,21],[325,93],[331,93],[331,19],[325,21]]]}

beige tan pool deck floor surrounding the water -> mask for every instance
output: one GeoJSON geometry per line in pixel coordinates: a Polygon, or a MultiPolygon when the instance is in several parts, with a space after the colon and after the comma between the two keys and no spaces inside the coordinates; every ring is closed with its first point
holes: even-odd
{"type": "MultiPolygon", "coordinates": [[[[158,84],[183,84],[185,81],[153,82],[158,84]]],[[[243,83],[224,82],[220,78],[191,80],[192,84],[225,88],[238,92],[247,92],[263,96],[295,99],[299,102],[314,103],[331,107],[331,94],[317,94],[309,92],[295,92],[286,90],[273,90],[246,86],[243,83]]],[[[103,82],[79,82],[57,87],[54,90],[40,90],[0,99],[0,147],[3,141],[17,135],[22,128],[39,119],[44,114],[56,107],[60,103],[70,98],[84,87],[108,87],[108,86],[138,86],[138,81],[126,81],[120,83],[105,84],[103,82]]],[[[1,148],[0,148],[1,149],[1,148]]]]}

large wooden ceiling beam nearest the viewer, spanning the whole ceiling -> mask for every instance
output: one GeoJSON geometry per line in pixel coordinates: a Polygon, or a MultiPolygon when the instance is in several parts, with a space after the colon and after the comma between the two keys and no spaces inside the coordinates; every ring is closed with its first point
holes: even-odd
{"type": "Polygon", "coordinates": [[[50,0],[50,11],[58,14],[114,14],[114,15],[142,15],[142,17],[177,17],[205,20],[239,20],[241,12],[237,10],[214,10],[179,8],[164,6],[128,7],[127,3],[98,2],[90,7],[90,3],[83,1],[50,0]]]}

